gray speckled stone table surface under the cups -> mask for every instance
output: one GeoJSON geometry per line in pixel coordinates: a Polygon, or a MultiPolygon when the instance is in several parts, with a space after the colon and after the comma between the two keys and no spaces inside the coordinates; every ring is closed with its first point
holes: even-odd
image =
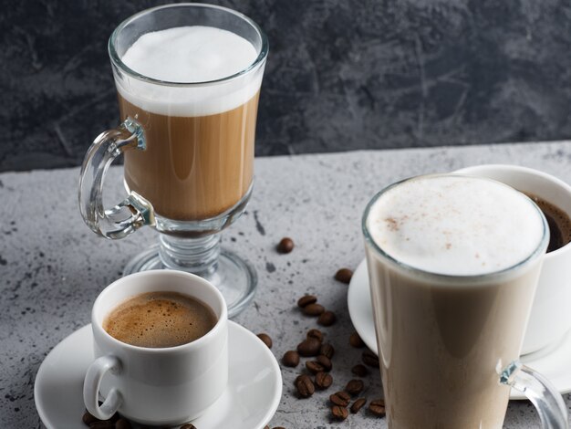
{"type": "MultiPolygon", "coordinates": [[[[506,162],[555,174],[571,183],[571,141],[456,148],[345,152],[256,159],[256,183],[247,213],[223,233],[223,246],[257,269],[254,304],[235,318],[254,333],[274,339],[279,359],[295,348],[315,319],[300,315],[296,299],[311,292],[337,323],[323,329],[336,347],[334,385],[306,400],[296,399],[300,368],[283,368],[284,392],[271,426],[285,428],[385,428],[361,410],[338,424],[329,418],[327,397],[351,378],[360,352],[348,345],[353,331],[347,286],[333,275],[357,267],[364,256],[360,215],[369,198],[410,175],[447,172],[462,166],[506,162]],[[275,244],[291,236],[295,250],[278,255],[275,244]]],[[[120,167],[111,168],[109,197],[121,192],[120,167]]],[[[34,405],[36,371],[47,353],[89,322],[99,291],[121,275],[131,256],[156,239],[151,229],[119,241],[92,234],[77,203],[78,169],[0,174],[0,427],[42,427],[34,405]]],[[[571,370],[570,370],[571,371],[571,370]]],[[[363,395],[381,392],[377,371],[363,395]]],[[[571,406],[571,396],[565,400],[571,406]]],[[[512,402],[505,428],[538,427],[527,402],[512,402]]]]}

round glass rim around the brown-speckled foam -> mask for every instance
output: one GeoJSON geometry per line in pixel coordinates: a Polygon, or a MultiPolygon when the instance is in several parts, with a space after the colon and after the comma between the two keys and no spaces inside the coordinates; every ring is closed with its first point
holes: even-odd
{"type": "Polygon", "coordinates": [[[547,248],[547,245],[549,244],[549,226],[547,225],[547,221],[545,220],[545,215],[543,214],[543,212],[541,211],[539,206],[537,204],[535,204],[531,198],[529,198],[524,193],[521,193],[520,191],[518,191],[514,187],[512,187],[508,184],[505,184],[503,182],[496,181],[496,180],[490,179],[488,177],[480,177],[480,176],[472,176],[469,174],[456,174],[456,173],[421,174],[418,176],[412,176],[412,177],[409,177],[407,179],[400,180],[399,182],[396,182],[396,183],[389,184],[389,186],[386,186],[381,191],[379,191],[379,193],[375,194],[371,198],[369,203],[367,204],[367,206],[365,208],[365,212],[363,213],[363,216],[361,218],[361,230],[363,232],[363,236],[365,237],[365,243],[368,246],[370,246],[375,251],[375,253],[377,255],[379,255],[379,256],[383,257],[384,259],[386,259],[387,261],[389,261],[389,263],[391,265],[399,267],[400,269],[403,269],[405,272],[407,272],[411,275],[417,275],[417,276],[420,275],[422,277],[438,279],[438,280],[443,281],[445,283],[451,282],[452,280],[478,283],[478,282],[490,280],[491,278],[508,275],[512,271],[514,271],[515,269],[517,269],[519,267],[524,267],[528,263],[535,261],[535,259],[538,256],[545,254],[545,250],[547,248]],[[508,188],[514,190],[514,192],[522,194],[524,196],[524,199],[526,199],[529,204],[532,204],[532,207],[534,207],[535,211],[539,214],[539,217],[541,219],[542,226],[543,226],[541,240],[539,241],[538,245],[535,246],[534,251],[531,254],[529,254],[528,256],[525,256],[524,259],[522,259],[521,261],[518,261],[514,265],[512,265],[510,267],[502,268],[500,270],[491,271],[491,272],[484,273],[484,274],[453,275],[453,274],[437,273],[434,271],[427,271],[425,269],[421,269],[419,267],[414,267],[414,266],[411,266],[409,264],[406,264],[406,263],[398,260],[397,258],[390,256],[377,243],[375,243],[375,240],[373,240],[372,236],[369,233],[369,227],[367,225],[367,219],[369,218],[369,212],[370,212],[371,207],[373,206],[373,204],[375,204],[379,200],[379,198],[383,194],[386,194],[389,190],[391,190],[391,189],[393,189],[393,188],[395,188],[395,187],[397,187],[400,184],[405,183],[405,182],[418,180],[421,178],[447,177],[447,176],[468,177],[471,179],[478,179],[478,180],[484,180],[484,181],[499,183],[505,187],[508,187],[508,188]]]}

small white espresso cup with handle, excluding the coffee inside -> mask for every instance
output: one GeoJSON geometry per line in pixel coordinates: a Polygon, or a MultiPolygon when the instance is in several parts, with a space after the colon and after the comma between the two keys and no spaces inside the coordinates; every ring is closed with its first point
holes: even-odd
{"type": "Polygon", "coordinates": [[[140,424],[176,425],[200,416],[228,382],[228,317],[223,296],[208,281],[171,270],[119,278],[96,299],[91,313],[95,361],[83,386],[88,412],[99,419],[119,411],[140,424]],[[103,329],[109,312],[147,292],[179,292],[201,300],[218,321],[198,340],[176,347],[132,346],[103,329]],[[99,395],[105,398],[99,405],[99,395]]]}

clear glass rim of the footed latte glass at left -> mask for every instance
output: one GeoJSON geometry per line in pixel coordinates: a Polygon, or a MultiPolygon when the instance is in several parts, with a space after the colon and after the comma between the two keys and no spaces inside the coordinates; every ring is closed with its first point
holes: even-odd
{"type": "Polygon", "coordinates": [[[240,12],[237,12],[233,9],[228,8],[228,7],[223,7],[223,6],[219,6],[219,5],[208,5],[205,3],[176,3],[176,4],[171,4],[171,5],[160,5],[160,6],[156,6],[156,7],[151,7],[149,9],[142,10],[142,11],[136,13],[135,15],[132,15],[132,16],[128,17],[127,19],[125,19],[123,22],[121,22],[119,24],[119,26],[117,26],[113,30],[113,33],[111,33],[111,36],[109,37],[109,42],[108,42],[108,52],[109,52],[109,58],[111,59],[111,63],[113,64],[113,66],[119,68],[124,73],[128,74],[131,78],[137,78],[137,79],[142,80],[144,82],[155,84],[155,85],[161,85],[161,86],[180,87],[180,88],[195,88],[195,87],[204,87],[204,86],[216,85],[216,84],[223,83],[223,82],[226,82],[229,80],[234,80],[236,78],[240,78],[244,75],[249,74],[254,69],[258,68],[261,64],[264,64],[265,58],[267,58],[267,54],[269,52],[269,43],[268,43],[267,36],[265,35],[264,30],[262,30],[262,28],[260,26],[258,26],[254,22],[253,19],[251,19],[248,16],[245,16],[244,14],[242,14],[240,12]],[[260,40],[262,42],[262,47],[260,48],[260,53],[258,54],[258,56],[254,59],[254,61],[248,67],[243,68],[242,70],[234,73],[233,75],[226,76],[223,78],[217,78],[217,79],[213,79],[213,80],[202,80],[202,81],[195,81],[195,82],[171,82],[169,80],[161,80],[158,78],[150,78],[148,76],[145,76],[145,75],[133,70],[129,66],[127,66],[121,60],[121,58],[119,58],[119,54],[117,53],[117,49],[115,49],[115,41],[117,40],[119,33],[126,26],[128,26],[133,21],[139,19],[141,16],[146,16],[146,15],[149,15],[153,12],[158,11],[158,10],[167,9],[167,8],[171,8],[171,7],[184,7],[184,8],[186,8],[186,7],[193,7],[193,8],[194,7],[202,7],[205,9],[217,9],[217,10],[232,14],[234,16],[237,16],[238,18],[243,19],[246,23],[248,23],[250,26],[252,26],[254,28],[254,30],[258,33],[260,40]]]}

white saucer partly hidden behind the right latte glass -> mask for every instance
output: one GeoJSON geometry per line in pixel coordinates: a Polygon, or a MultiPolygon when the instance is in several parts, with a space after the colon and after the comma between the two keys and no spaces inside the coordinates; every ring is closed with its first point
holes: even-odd
{"type": "MultiPolygon", "coordinates": [[[[377,353],[377,338],[370,302],[367,262],[363,260],[355,270],[348,289],[349,316],[358,335],[371,351],[377,353]]],[[[571,392],[571,331],[557,344],[545,350],[524,355],[520,360],[544,375],[560,393],[571,392]]],[[[510,399],[527,399],[521,392],[512,390],[510,399]]]]}

